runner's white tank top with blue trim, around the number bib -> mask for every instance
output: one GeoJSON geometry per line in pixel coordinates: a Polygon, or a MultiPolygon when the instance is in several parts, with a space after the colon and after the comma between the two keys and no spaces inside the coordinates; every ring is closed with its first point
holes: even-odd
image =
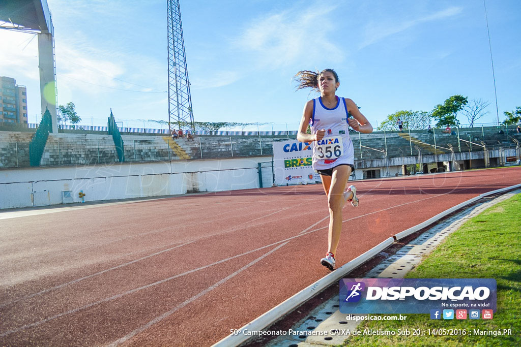
{"type": "Polygon", "coordinates": [[[337,96],[337,106],[327,108],[322,104],[322,98],[313,99],[313,115],[309,124],[311,133],[325,129],[324,137],[341,136],[343,144],[342,156],[336,159],[319,159],[317,153],[317,142],[313,142],[313,169],[325,170],[332,169],[340,164],[354,164],[353,142],[349,137],[348,109],[345,106],[345,99],[337,96]]]}

